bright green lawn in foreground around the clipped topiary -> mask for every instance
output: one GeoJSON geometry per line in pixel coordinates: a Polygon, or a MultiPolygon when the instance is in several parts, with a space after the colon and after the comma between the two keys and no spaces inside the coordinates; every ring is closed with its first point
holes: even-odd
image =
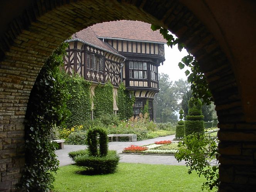
{"type": "Polygon", "coordinates": [[[205,178],[186,166],[120,163],[117,172],[108,175],[81,175],[83,169],[60,167],[54,182],[55,192],[199,192],[205,178]]]}

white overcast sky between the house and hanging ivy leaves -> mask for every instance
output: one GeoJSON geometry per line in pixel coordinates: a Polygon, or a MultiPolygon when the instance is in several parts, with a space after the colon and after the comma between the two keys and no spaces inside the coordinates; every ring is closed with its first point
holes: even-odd
{"type": "Polygon", "coordinates": [[[181,59],[186,55],[188,55],[187,51],[183,49],[180,52],[178,50],[178,45],[172,46],[172,48],[165,45],[165,61],[163,62],[163,65],[160,64],[158,67],[158,73],[168,74],[171,81],[177,81],[179,79],[187,80],[185,71],[188,68],[180,70],[178,66],[181,59]]]}

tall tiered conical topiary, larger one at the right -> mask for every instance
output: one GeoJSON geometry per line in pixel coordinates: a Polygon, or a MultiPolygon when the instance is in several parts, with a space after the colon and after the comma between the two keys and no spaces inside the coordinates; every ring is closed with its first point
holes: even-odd
{"type": "Polygon", "coordinates": [[[204,132],[204,116],[202,115],[202,102],[200,99],[189,100],[189,111],[185,120],[185,136],[193,132],[204,132]]]}

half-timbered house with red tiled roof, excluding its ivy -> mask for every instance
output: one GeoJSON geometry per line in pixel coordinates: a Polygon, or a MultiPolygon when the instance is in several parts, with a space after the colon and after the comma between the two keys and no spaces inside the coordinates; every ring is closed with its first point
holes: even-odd
{"type": "Polygon", "coordinates": [[[148,23],[123,20],[93,25],[67,41],[65,70],[92,81],[92,95],[98,83],[110,80],[117,111],[117,88],[123,81],[135,96],[134,116],[142,112],[148,100],[153,119],[153,99],[159,92],[158,66],[165,60],[166,41],[159,31],[152,31],[148,23]]]}

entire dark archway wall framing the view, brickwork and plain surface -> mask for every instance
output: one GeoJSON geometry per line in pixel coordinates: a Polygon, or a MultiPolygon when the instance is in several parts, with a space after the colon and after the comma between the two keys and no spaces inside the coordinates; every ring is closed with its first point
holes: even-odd
{"type": "Polygon", "coordinates": [[[15,189],[22,176],[26,106],[47,57],[73,33],[122,19],[170,29],[197,58],[219,120],[219,191],[255,190],[253,1],[10,0],[0,7],[0,190],[15,189]]]}

